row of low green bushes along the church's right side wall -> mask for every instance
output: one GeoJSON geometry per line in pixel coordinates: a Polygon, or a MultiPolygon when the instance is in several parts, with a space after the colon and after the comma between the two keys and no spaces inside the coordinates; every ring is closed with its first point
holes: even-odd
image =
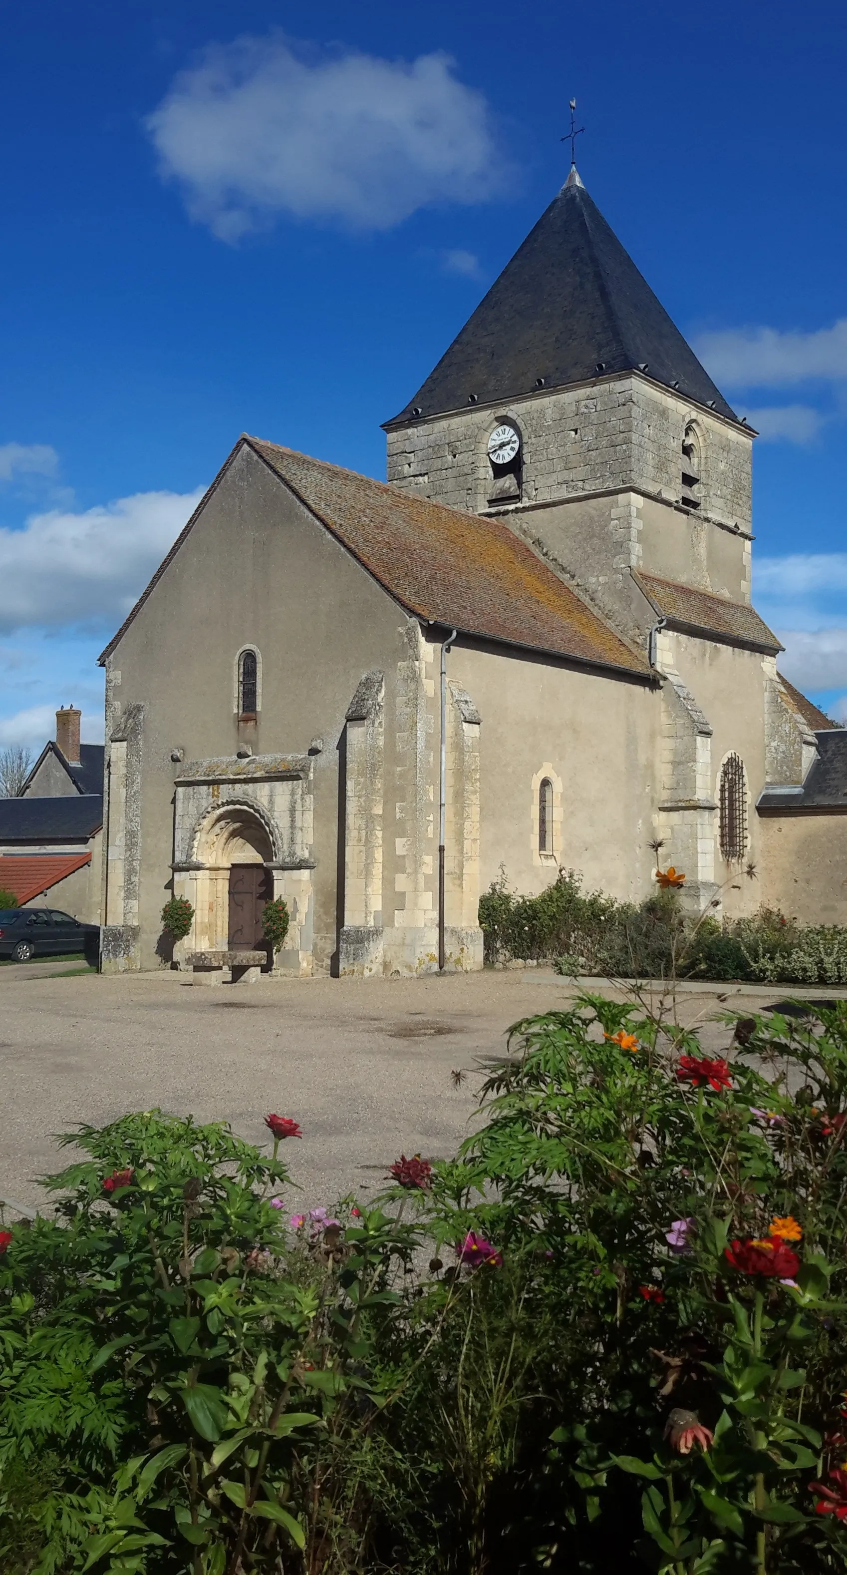
{"type": "Polygon", "coordinates": [[[721,925],[685,915],[677,891],[636,907],[601,891],[584,896],[581,884],[560,869],[538,896],[516,896],[501,871],[479,904],[486,962],[546,959],[568,976],[847,983],[844,928],[797,925],[767,907],[721,925]]]}

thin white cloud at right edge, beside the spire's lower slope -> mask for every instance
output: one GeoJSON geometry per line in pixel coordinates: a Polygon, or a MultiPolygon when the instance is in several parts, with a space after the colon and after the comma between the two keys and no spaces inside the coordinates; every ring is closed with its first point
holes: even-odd
{"type": "Polygon", "coordinates": [[[847,380],[847,318],[809,334],[719,329],[694,339],[694,350],[715,381],[727,387],[787,387],[812,378],[841,383],[847,380]]]}

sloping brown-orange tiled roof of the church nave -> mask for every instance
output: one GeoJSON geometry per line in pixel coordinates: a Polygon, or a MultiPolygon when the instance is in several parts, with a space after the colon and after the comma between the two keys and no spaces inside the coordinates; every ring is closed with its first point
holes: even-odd
{"type": "Polygon", "coordinates": [[[650,674],[601,619],[497,520],[249,438],[305,507],[416,617],[576,662],[650,674]]]}

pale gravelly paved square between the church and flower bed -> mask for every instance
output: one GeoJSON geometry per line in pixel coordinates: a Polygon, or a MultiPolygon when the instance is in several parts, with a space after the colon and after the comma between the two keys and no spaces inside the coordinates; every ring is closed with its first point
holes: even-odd
{"type": "MultiPolygon", "coordinates": [[[[0,1197],[39,1202],[33,1178],[66,1162],[49,1134],[154,1104],[227,1118],[257,1143],[269,1110],[293,1115],[304,1131],[287,1150],[302,1188],[293,1206],[348,1191],[367,1197],[401,1151],[452,1154],[474,1114],[480,1058],[502,1054],[518,1017],[571,995],[546,969],[219,989],[179,973],[44,978],[31,965],[14,976],[3,969],[0,1197]],[[458,1090],[453,1069],[468,1074],[458,1090]]],[[[715,1054],[729,1040],[708,1021],[715,1013],[778,999],[762,986],[682,986],[679,1017],[702,1024],[704,1049],[715,1054]]]]}

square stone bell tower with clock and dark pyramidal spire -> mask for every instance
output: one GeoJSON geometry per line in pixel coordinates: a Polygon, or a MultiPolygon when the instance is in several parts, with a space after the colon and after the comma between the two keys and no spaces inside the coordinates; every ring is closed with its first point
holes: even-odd
{"type": "Polygon", "coordinates": [[[630,638],[641,575],[749,603],[754,433],[575,165],[386,433],[389,482],[501,518],[630,638]]]}

